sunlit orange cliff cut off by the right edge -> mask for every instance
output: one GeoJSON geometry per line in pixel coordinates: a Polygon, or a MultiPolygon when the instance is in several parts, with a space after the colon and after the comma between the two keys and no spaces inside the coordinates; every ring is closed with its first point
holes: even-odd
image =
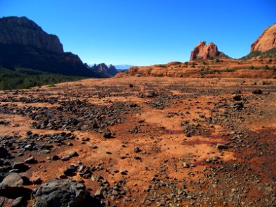
{"type": "Polygon", "coordinates": [[[276,23],[264,30],[261,36],[251,45],[250,52],[266,52],[276,48],[276,23]]]}

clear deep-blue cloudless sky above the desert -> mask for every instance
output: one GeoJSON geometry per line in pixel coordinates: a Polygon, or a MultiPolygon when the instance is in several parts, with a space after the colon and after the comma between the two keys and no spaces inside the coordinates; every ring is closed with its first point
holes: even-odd
{"type": "Polygon", "coordinates": [[[242,57],[276,23],[276,0],[0,0],[0,17],[26,16],[86,63],[148,66],[188,61],[213,41],[242,57]]]}

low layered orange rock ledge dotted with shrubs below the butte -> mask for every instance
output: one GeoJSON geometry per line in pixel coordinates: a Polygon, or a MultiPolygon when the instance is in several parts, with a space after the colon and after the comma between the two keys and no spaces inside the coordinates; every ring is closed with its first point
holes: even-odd
{"type": "Polygon", "coordinates": [[[276,58],[214,59],[193,62],[170,62],[154,66],[134,66],[117,77],[246,77],[276,78],[276,58]],[[254,70],[253,70],[254,69],[254,70]]]}

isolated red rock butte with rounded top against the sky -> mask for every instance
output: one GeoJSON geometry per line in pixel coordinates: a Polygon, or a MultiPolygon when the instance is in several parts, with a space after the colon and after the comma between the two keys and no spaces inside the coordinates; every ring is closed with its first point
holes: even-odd
{"type": "Polygon", "coordinates": [[[190,61],[199,59],[211,59],[211,58],[228,58],[224,52],[219,52],[217,46],[210,42],[206,45],[206,41],[201,41],[195,46],[194,50],[190,54],[190,61]]]}

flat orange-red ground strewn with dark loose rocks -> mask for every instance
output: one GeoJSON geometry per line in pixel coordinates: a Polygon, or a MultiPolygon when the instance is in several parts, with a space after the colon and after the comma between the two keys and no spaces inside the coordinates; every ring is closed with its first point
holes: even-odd
{"type": "Polygon", "coordinates": [[[0,92],[0,206],[276,206],[276,80],[0,92]]]}

